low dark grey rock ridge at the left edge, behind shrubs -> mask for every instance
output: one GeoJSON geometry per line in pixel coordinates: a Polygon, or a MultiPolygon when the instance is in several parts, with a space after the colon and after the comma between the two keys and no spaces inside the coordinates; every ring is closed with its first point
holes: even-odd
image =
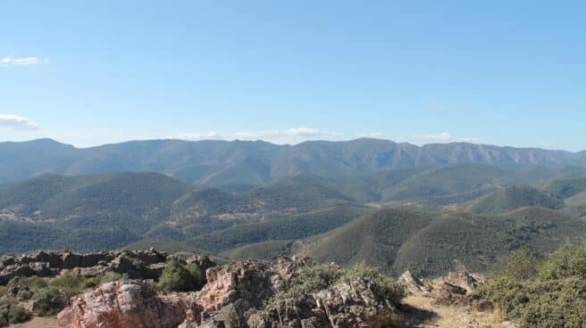
{"type": "MultiPolygon", "coordinates": [[[[63,273],[96,276],[116,272],[135,279],[156,279],[161,274],[164,263],[170,258],[172,256],[169,254],[153,249],[86,254],[38,251],[21,256],[4,256],[0,258],[0,285],[8,283],[15,276],[51,277],[63,273]]],[[[193,260],[205,264],[206,267],[214,265],[206,257],[195,257],[193,260]]]]}

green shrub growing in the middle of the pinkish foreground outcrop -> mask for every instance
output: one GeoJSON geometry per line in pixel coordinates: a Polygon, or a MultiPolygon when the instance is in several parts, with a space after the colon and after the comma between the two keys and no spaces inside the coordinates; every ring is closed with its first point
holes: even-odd
{"type": "Polygon", "coordinates": [[[343,271],[338,266],[314,265],[306,266],[293,277],[289,288],[275,294],[276,299],[297,299],[314,292],[323,291],[338,282],[343,271]]]}

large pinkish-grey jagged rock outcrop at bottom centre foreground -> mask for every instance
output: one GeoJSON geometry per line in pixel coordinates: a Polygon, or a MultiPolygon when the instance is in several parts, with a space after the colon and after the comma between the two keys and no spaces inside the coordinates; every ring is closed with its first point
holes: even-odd
{"type": "Polygon", "coordinates": [[[140,281],[108,283],[74,299],[60,327],[382,327],[398,317],[367,279],[342,278],[323,291],[293,299],[273,296],[307,265],[306,258],[247,260],[206,271],[207,284],[190,294],[155,295],[140,281]]]}

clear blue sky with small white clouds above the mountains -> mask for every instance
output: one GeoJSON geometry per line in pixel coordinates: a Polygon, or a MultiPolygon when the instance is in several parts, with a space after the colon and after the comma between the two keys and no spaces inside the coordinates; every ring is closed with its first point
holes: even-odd
{"type": "Polygon", "coordinates": [[[0,141],[586,149],[585,2],[0,0],[0,141]]]}

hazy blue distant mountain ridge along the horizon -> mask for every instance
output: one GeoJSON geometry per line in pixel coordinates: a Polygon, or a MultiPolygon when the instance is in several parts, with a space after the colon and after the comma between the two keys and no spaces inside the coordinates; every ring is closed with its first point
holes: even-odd
{"type": "Polygon", "coordinates": [[[450,163],[586,167],[586,151],[548,151],[473,143],[416,146],[381,139],[308,141],[150,140],[75,148],[51,139],[0,143],[0,183],[51,173],[103,174],[153,171],[199,184],[267,184],[302,172],[324,177],[368,175],[390,169],[450,163]]]}

